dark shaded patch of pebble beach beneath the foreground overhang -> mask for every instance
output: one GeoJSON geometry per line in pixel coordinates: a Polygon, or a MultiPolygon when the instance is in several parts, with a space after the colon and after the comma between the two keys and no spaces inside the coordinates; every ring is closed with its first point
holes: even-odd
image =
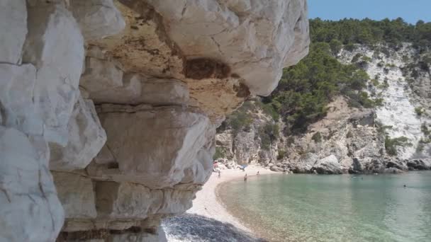
{"type": "Polygon", "coordinates": [[[232,224],[223,223],[196,214],[183,214],[164,219],[164,232],[169,238],[179,241],[265,241],[232,224]]]}

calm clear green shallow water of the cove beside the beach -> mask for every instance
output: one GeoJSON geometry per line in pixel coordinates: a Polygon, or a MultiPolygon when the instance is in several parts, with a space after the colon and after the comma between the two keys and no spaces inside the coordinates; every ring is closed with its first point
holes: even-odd
{"type": "Polygon", "coordinates": [[[429,171],[261,175],[224,183],[218,195],[271,241],[431,241],[429,171]]]}

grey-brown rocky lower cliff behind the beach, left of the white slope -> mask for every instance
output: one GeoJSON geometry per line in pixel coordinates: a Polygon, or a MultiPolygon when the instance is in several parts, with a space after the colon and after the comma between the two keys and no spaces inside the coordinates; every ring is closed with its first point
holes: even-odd
{"type": "Polygon", "coordinates": [[[227,140],[233,136],[230,129],[216,137],[225,156],[237,163],[244,160],[264,166],[274,163],[284,171],[293,173],[316,171],[329,174],[347,173],[349,170],[364,172],[373,160],[384,163],[384,137],[379,134],[374,122],[374,110],[351,108],[345,98],[339,97],[330,103],[328,115],[310,125],[306,134],[286,137],[284,124],[278,122],[279,138],[274,139],[266,149],[262,149],[262,127],[274,121],[262,110],[250,115],[253,116],[250,129],[238,132],[232,142],[227,140]],[[247,159],[250,156],[253,158],[247,159]]]}

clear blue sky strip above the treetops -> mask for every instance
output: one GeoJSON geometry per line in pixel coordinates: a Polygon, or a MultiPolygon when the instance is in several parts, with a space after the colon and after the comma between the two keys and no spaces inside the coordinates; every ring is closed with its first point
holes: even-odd
{"type": "Polygon", "coordinates": [[[325,20],[401,17],[408,23],[430,22],[431,0],[308,0],[308,14],[325,20]]]}

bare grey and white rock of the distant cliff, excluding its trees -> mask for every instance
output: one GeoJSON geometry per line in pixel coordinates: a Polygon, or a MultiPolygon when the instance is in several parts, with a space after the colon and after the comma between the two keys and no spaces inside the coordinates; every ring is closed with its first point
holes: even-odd
{"type": "MultiPolygon", "coordinates": [[[[283,123],[279,122],[278,138],[264,151],[260,129],[272,118],[254,104],[247,109],[252,117],[249,129],[235,133],[225,124],[218,129],[217,149],[223,151],[224,158],[220,161],[264,166],[273,163],[293,173],[400,173],[429,169],[431,76],[426,67],[420,66],[426,54],[404,43],[399,50],[385,45],[374,49],[357,45],[353,51],[341,50],[336,57],[343,64],[360,64],[372,79],[364,91],[374,100],[381,99],[382,105],[352,108],[346,98],[337,97],[328,105],[328,115],[301,135],[282,132],[283,123]],[[355,62],[357,56],[364,57],[366,63],[355,62]],[[405,139],[405,144],[391,147],[391,140],[397,138],[405,139]],[[388,152],[390,149],[392,152],[388,152]],[[327,157],[332,157],[331,162],[320,162],[327,157]]],[[[230,167],[235,167],[235,163],[230,167]]]]}

